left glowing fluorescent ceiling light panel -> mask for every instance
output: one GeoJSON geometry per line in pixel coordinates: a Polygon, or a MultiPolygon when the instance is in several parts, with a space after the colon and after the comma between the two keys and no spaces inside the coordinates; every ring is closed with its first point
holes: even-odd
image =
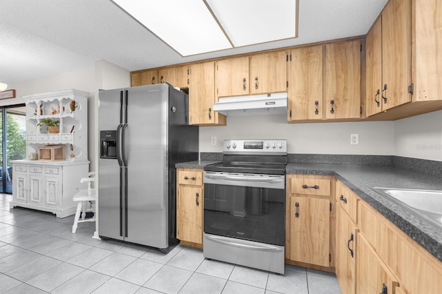
{"type": "Polygon", "coordinates": [[[202,0],[113,0],[182,56],[232,48],[202,0]]]}

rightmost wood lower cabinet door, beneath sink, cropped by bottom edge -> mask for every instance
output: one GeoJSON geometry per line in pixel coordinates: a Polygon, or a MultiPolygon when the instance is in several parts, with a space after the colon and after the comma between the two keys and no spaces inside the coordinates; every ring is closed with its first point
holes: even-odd
{"type": "Polygon", "coordinates": [[[367,239],[361,233],[357,235],[356,293],[394,293],[395,287],[398,286],[396,278],[367,242],[367,239]]]}

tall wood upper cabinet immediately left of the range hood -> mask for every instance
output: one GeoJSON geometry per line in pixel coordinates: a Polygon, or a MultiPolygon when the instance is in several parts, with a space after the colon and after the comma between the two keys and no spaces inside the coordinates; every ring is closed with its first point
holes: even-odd
{"type": "Polygon", "coordinates": [[[215,62],[195,63],[189,75],[190,124],[202,126],[225,126],[225,115],[213,111],[215,99],[215,62]]]}

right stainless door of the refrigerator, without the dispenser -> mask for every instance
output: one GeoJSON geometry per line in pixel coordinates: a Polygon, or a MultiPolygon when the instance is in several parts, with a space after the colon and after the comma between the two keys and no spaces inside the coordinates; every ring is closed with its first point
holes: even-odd
{"type": "Polygon", "coordinates": [[[124,153],[127,162],[127,242],[167,248],[169,86],[128,88],[124,153]]]}

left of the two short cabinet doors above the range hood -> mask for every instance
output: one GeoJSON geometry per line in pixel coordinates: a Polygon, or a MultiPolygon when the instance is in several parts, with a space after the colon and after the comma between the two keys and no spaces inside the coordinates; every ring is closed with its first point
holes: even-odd
{"type": "Polygon", "coordinates": [[[215,96],[249,95],[249,57],[215,62],[215,96]]]}

